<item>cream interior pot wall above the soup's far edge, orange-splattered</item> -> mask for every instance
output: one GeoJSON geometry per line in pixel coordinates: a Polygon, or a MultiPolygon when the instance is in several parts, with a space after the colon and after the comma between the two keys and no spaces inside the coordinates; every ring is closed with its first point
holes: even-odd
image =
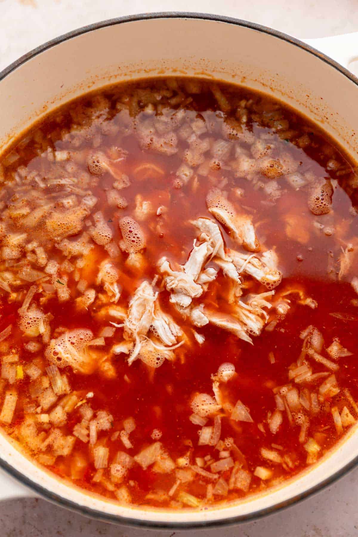
{"type": "Polygon", "coordinates": [[[124,21],[35,55],[1,81],[0,147],[35,119],[86,91],[135,77],[181,74],[221,78],[270,93],[310,115],[354,155],[354,82],[284,39],[194,18],[124,21]]]}

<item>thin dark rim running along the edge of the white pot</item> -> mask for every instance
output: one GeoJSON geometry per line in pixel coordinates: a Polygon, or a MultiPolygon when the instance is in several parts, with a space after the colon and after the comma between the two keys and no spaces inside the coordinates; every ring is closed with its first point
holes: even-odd
{"type": "MultiPolygon", "coordinates": [[[[137,15],[130,15],[127,17],[108,19],[108,20],[101,21],[99,23],[94,23],[88,26],[83,26],[82,28],[78,28],[77,30],[65,33],[63,35],[60,35],[60,37],[47,41],[43,45],[40,45],[39,47],[36,47],[33,50],[31,50],[31,52],[24,54],[18,60],[11,63],[9,67],[6,67],[3,71],[0,72],[0,81],[2,81],[3,78],[8,76],[12,71],[14,71],[18,67],[26,63],[28,60],[31,60],[34,56],[37,56],[38,54],[41,54],[45,50],[55,47],[56,45],[59,45],[60,43],[64,41],[78,37],[78,35],[82,35],[87,32],[92,32],[93,30],[99,30],[99,28],[104,28],[106,26],[113,26],[116,24],[130,23],[130,22],[139,21],[139,20],[166,19],[166,18],[213,20],[213,21],[218,21],[221,23],[235,24],[237,26],[243,26],[246,28],[250,28],[251,30],[256,30],[262,33],[273,35],[274,37],[278,39],[282,39],[283,41],[287,41],[288,43],[291,43],[291,45],[302,48],[309,54],[313,54],[314,56],[317,56],[320,60],[322,60],[325,63],[328,63],[334,69],[337,69],[347,78],[349,78],[350,81],[352,81],[354,84],[358,85],[358,78],[356,78],[350,71],[342,67],[339,63],[335,62],[334,60],[332,60],[330,57],[326,56],[325,54],[322,54],[315,48],[309,45],[306,45],[306,43],[299,41],[298,39],[295,39],[291,37],[290,35],[287,35],[283,32],[273,30],[272,28],[268,28],[266,26],[261,26],[260,24],[251,23],[246,20],[235,19],[232,17],[222,17],[219,15],[214,15],[214,14],[209,14],[209,13],[186,13],[186,12],[180,12],[180,11],[141,13],[137,15]]],[[[328,487],[329,485],[337,481],[340,477],[346,475],[350,470],[355,468],[357,465],[358,465],[358,455],[352,461],[350,461],[344,468],[335,472],[330,477],[326,478],[324,481],[320,482],[314,487],[311,487],[310,489],[306,490],[302,494],[296,495],[293,498],[286,500],[285,502],[276,503],[275,505],[266,507],[265,509],[259,509],[249,514],[237,515],[235,517],[223,518],[223,519],[218,519],[218,520],[210,520],[210,521],[202,520],[202,521],[196,521],[196,522],[186,522],[185,514],[184,514],[183,516],[184,520],[182,522],[181,521],[166,522],[164,520],[165,512],[161,512],[161,513],[158,512],[158,516],[162,518],[161,521],[149,521],[149,520],[139,520],[135,518],[135,516],[133,518],[127,518],[127,517],[122,517],[122,516],[115,515],[115,514],[104,513],[101,511],[97,511],[96,509],[91,509],[90,507],[79,505],[75,502],[72,502],[69,499],[63,498],[62,496],[59,496],[57,494],[54,494],[53,492],[50,492],[44,487],[41,487],[41,485],[32,481],[30,478],[24,476],[23,474],[21,474],[20,471],[18,471],[16,468],[9,465],[8,462],[0,458],[0,467],[2,469],[4,469],[8,474],[16,478],[26,487],[32,489],[34,492],[38,493],[40,496],[49,500],[50,502],[60,505],[61,507],[66,507],[67,509],[70,509],[72,511],[76,511],[80,514],[83,514],[84,516],[91,517],[91,518],[101,520],[104,522],[127,525],[127,526],[134,526],[134,527],[141,527],[141,528],[151,528],[151,529],[194,529],[194,528],[200,528],[200,527],[202,528],[224,527],[224,526],[227,527],[227,526],[235,525],[235,524],[242,523],[242,522],[257,520],[261,517],[267,516],[268,514],[281,511],[293,504],[297,504],[298,502],[301,502],[303,499],[308,498],[309,496],[312,496],[313,494],[317,494],[317,492],[324,490],[326,487],[328,487]]],[[[71,485],[69,485],[69,488],[71,488],[71,485]]],[[[238,505],[238,510],[239,510],[239,505],[238,505]]]]}

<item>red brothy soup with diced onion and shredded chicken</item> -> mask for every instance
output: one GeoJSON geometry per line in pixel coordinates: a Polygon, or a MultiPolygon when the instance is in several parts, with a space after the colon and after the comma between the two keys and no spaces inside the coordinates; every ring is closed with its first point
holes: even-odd
{"type": "Polygon", "coordinates": [[[120,503],[206,509],[356,423],[355,164],[236,85],[85,95],[0,160],[0,422],[120,503]]]}

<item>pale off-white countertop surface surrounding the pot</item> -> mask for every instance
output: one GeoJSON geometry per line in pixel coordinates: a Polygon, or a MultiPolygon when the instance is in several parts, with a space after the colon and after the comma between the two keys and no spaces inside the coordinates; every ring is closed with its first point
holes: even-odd
{"type": "MultiPolygon", "coordinates": [[[[0,0],[0,70],[41,43],[99,20],[148,11],[197,11],[251,20],[298,38],[358,31],[357,0],[0,0]]],[[[358,50],[357,50],[358,56],[358,50]]],[[[200,537],[353,537],[358,535],[358,468],[331,487],[269,517],[200,537]]],[[[112,526],[45,500],[0,503],[0,537],[184,537],[112,526]]]]}

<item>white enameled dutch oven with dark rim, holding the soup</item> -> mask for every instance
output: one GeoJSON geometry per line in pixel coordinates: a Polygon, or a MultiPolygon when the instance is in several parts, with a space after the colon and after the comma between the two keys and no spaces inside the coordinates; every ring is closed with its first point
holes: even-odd
{"type": "MultiPolygon", "coordinates": [[[[358,159],[358,80],[343,66],[358,34],[309,44],[242,20],[196,13],[123,17],[63,35],[0,73],[0,150],[69,99],[103,85],[155,75],[194,75],[261,90],[301,111],[358,159]],[[318,52],[324,50],[328,56],[318,52]],[[332,60],[331,58],[334,58],[332,60]]],[[[41,496],[121,524],[193,528],[264,516],[322,489],[358,462],[358,429],[317,466],[235,505],[168,512],[120,506],[35,466],[0,434],[0,498],[41,496]]]]}

